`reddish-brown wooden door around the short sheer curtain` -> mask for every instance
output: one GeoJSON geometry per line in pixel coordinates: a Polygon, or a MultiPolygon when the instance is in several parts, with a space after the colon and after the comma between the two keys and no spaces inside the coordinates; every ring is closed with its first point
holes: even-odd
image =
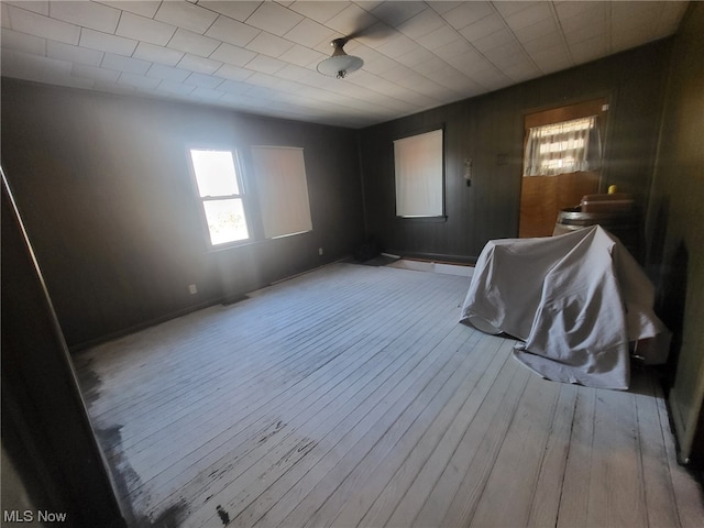
{"type": "MultiPolygon", "coordinates": [[[[597,116],[596,127],[604,138],[608,98],[529,113],[524,119],[524,155],[531,128],[597,116]]],[[[522,176],[518,235],[550,237],[561,209],[576,207],[584,195],[602,190],[602,170],[581,170],[558,175],[522,176]]]]}

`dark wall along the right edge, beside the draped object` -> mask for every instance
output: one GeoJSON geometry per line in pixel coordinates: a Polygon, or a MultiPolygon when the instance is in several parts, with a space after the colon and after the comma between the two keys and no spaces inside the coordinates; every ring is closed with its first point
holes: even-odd
{"type": "Polygon", "coordinates": [[[647,233],[647,268],[673,331],[666,389],[682,460],[704,468],[704,4],[678,32],[647,233]],[[697,424],[698,422],[698,424],[697,424]],[[698,427],[697,427],[698,426],[698,427]]]}

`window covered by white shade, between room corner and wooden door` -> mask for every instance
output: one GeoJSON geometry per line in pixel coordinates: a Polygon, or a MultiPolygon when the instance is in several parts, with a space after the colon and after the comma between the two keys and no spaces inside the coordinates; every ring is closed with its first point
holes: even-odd
{"type": "Polygon", "coordinates": [[[442,129],[394,141],[396,216],[443,215],[442,129]]]}

